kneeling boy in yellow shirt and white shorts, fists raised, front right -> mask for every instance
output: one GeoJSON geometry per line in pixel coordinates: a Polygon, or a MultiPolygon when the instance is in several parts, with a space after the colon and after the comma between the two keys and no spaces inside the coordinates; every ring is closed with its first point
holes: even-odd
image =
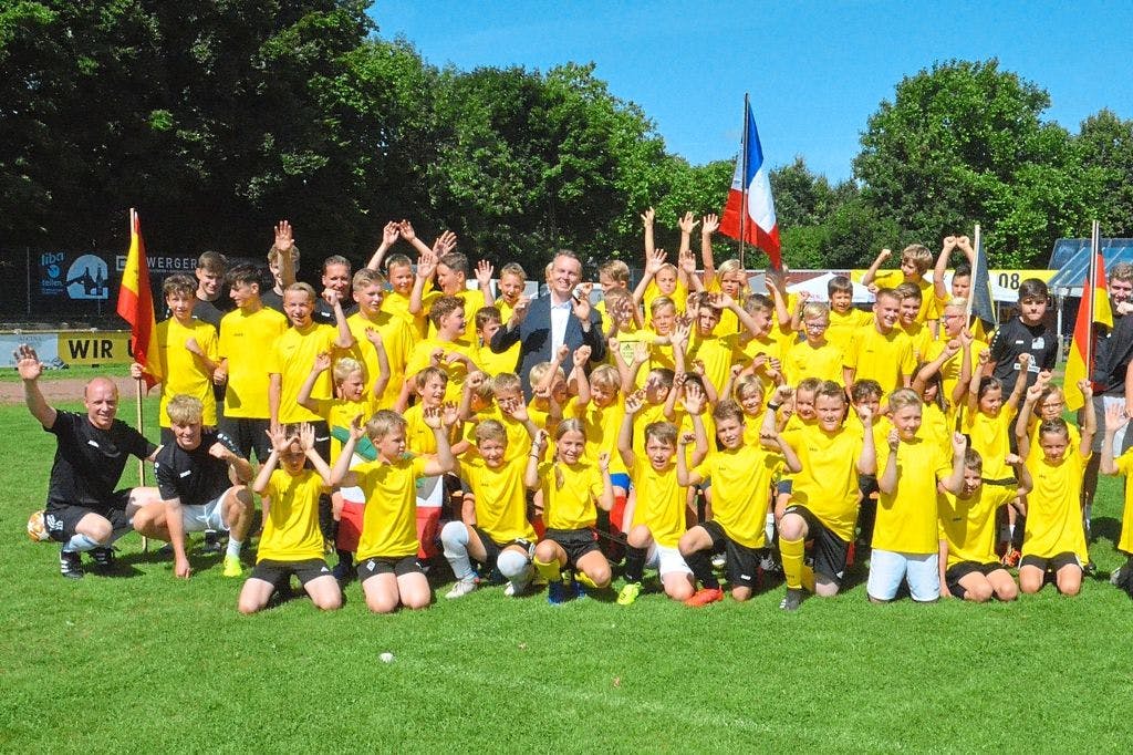
{"type": "Polygon", "coordinates": [[[955,433],[949,459],[935,440],[919,438],[921,400],[912,389],[889,396],[889,419],[866,592],[870,602],[887,603],[905,580],[914,601],[931,603],[940,597],[937,482],[952,493],[960,491],[966,443],[955,433]]]}

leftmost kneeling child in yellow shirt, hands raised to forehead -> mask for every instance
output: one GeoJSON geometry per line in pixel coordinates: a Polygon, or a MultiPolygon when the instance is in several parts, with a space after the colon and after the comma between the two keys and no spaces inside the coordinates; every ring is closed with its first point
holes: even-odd
{"type": "Polygon", "coordinates": [[[342,606],[342,589],[323,558],[318,532],[318,498],[330,485],[331,469],[315,450],[315,430],[304,424],[298,435],[283,427],[270,433],[272,451],[252,489],[264,500],[264,534],[256,568],[240,589],[240,613],[267,608],[272,596],[296,575],[310,602],[323,611],[342,606]],[[306,467],[310,461],[314,469],[306,467]]]}

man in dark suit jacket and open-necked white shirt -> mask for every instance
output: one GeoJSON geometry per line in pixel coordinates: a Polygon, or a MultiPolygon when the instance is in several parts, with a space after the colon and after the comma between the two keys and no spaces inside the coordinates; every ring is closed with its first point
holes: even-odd
{"type": "Polygon", "coordinates": [[[551,263],[550,291],[534,300],[520,300],[511,320],[492,337],[492,350],[506,351],[519,342],[519,376],[523,395],[531,398],[531,367],[550,362],[560,346],[570,354],[563,364],[570,364],[574,349],[590,347],[590,362],[600,363],[606,356],[602,334],[602,315],[590,306],[589,296],[574,296],[574,287],[582,277],[582,263],[573,252],[561,249],[551,263]]]}

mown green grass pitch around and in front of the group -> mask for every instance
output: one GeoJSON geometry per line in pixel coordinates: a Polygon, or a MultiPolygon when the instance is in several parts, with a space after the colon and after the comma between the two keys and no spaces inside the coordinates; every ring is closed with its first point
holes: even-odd
{"type": "Polygon", "coordinates": [[[214,557],[178,582],[135,535],[117,576],[60,578],[58,545],[24,532],[52,438],[23,406],[0,424],[3,752],[1128,750],[1113,480],[1099,576],[1070,600],[875,606],[858,568],[795,614],[781,587],[702,610],[485,588],[376,617],[351,584],[338,613],[296,600],[246,618],[214,557]]]}

